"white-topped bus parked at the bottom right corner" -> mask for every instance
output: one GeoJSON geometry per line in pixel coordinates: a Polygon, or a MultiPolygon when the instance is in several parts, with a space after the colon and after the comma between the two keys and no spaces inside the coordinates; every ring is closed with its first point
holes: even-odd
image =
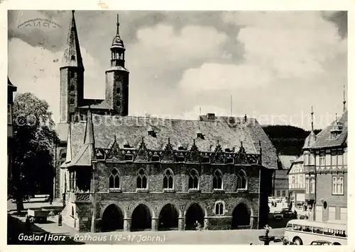
{"type": "Polygon", "coordinates": [[[285,228],[285,239],[297,245],[310,245],[312,241],[329,241],[332,245],[346,245],[346,224],[312,222],[291,219],[285,228]]]}

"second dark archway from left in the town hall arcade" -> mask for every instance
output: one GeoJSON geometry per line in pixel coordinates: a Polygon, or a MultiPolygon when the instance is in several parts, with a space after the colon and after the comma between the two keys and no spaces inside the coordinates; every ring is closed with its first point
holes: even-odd
{"type": "Polygon", "coordinates": [[[134,207],[131,214],[131,230],[140,231],[152,229],[152,214],[149,207],[145,204],[139,204],[134,207]]]}

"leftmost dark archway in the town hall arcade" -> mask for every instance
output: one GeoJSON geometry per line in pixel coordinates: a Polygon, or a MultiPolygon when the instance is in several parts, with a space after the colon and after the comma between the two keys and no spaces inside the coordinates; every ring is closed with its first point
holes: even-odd
{"type": "Polygon", "coordinates": [[[124,229],[124,212],[116,204],[110,204],[102,212],[102,231],[124,229]]]}

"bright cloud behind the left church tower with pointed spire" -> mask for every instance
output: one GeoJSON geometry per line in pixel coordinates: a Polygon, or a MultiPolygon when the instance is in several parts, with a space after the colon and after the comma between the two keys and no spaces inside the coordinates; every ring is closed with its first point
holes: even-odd
{"type": "MultiPolygon", "coordinates": [[[[97,98],[97,83],[104,80],[104,71],[87,50],[81,48],[84,60],[84,96],[97,98]]],[[[53,111],[55,121],[59,118],[60,66],[62,51],[51,52],[43,47],[32,47],[18,38],[9,41],[9,78],[18,87],[18,93],[31,92],[45,99],[53,111]]],[[[102,92],[104,93],[104,92],[102,92]]],[[[100,95],[100,93],[99,93],[100,95]]],[[[99,97],[103,98],[103,96],[99,97]]]]}

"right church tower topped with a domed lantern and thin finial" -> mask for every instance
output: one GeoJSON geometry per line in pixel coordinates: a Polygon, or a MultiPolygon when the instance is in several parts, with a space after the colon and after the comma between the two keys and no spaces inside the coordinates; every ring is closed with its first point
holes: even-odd
{"type": "Polygon", "coordinates": [[[129,71],[124,67],[124,41],[119,35],[119,15],[117,32],[111,45],[111,67],[106,71],[106,102],[116,115],[129,114],[129,71]]]}

